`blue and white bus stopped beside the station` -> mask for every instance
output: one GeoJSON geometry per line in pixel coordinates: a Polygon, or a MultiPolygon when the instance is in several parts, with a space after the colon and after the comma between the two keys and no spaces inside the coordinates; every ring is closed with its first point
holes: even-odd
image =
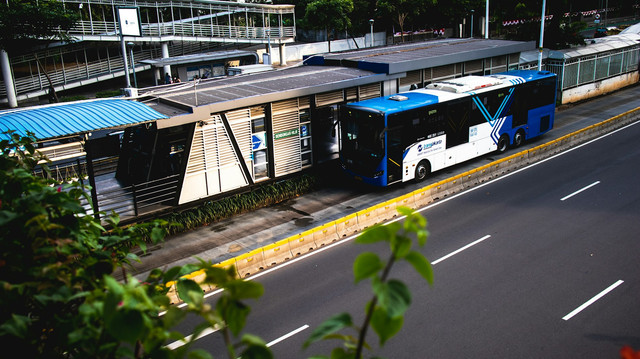
{"type": "Polygon", "coordinates": [[[371,185],[421,181],[549,131],[555,102],[555,74],[518,70],[350,103],[340,110],[341,165],[371,185]]]}

